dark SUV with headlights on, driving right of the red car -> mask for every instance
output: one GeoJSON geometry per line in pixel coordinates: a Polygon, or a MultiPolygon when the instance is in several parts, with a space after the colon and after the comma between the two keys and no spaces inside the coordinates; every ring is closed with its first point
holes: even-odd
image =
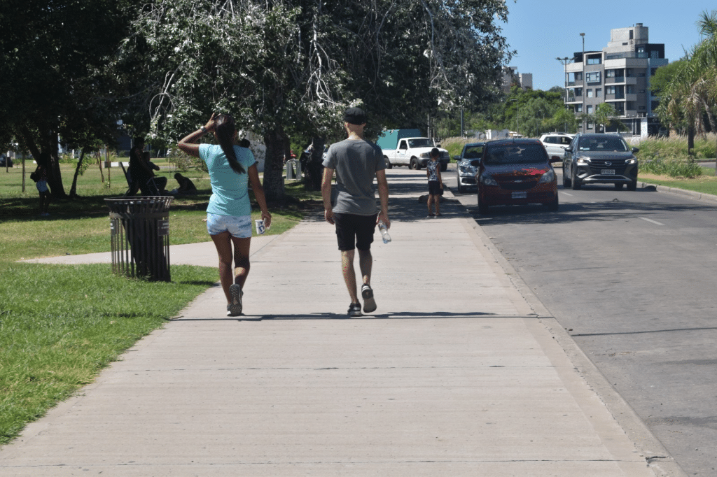
{"type": "Polygon", "coordinates": [[[565,148],[563,186],[576,191],[583,184],[614,184],[616,189],[627,184],[628,191],[635,191],[638,150],[618,135],[579,133],[565,148]]]}

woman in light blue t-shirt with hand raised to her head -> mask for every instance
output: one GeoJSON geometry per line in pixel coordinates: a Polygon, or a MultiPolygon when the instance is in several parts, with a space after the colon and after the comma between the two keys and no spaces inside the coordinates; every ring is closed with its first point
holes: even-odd
{"type": "Polygon", "coordinates": [[[206,230],[219,255],[219,278],[227,297],[227,316],[236,317],[242,313],[244,283],[250,269],[252,205],[249,182],[265,226],[268,228],[271,225],[271,214],[267,209],[254,154],[247,148],[239,147],[234,117],[228,114],[212,115],[206,125],[180,140],[178,146],[185,153],[203,160],[209,170],[212,197],[206,208],[206,230]],[[214,133],[219,145],[194,144],[206,133],[214,133]]]}

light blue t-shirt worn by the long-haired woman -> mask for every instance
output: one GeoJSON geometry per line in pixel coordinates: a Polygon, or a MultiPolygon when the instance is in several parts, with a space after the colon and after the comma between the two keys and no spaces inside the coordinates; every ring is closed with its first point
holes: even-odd
{"type": "MultiPolygon", "coordinates": [[[[234,155],[247,172],[255,163],[254,154],[247,148],[235,145],[234,155]]],[[[212,180],[212,197],[209,198],[206,211],[220,216],[250,216],[252,204],[247,190],[249,176],[234,172],[222,146],[200,144],[199,158],[206,163],[209,178],[212,180]]]]}

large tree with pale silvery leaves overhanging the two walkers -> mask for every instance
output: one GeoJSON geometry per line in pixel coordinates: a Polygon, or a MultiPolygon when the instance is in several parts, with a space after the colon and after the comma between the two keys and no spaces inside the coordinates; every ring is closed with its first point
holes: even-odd
{"type": "Polygon", "coordinates": [[[174,141],[232,112],[264,139],[277,200],[289,135],[340,135],[348,105],[369,113],[371,134],[491,100],[509,56],[495,20],[507,14],[503,0],[154,1],[117,64],[136,88],[125,119],[174,141]]]}

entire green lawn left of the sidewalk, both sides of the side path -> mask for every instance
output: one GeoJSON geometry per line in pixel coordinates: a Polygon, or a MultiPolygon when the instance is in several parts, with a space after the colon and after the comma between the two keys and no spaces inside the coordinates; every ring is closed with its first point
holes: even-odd
{"type": "MultiPolygon", "coordinates": [[[[192,299],[219,279],[212,267],[171,267],[172,282],[114,276],[108,264],[48,265],[19,259],[110,251],[109,209],[105,197],[127,188],[120,169],[95,165],[77,180],[78,199],[50,204],[49,218],[39,217],[38,194],[27,165],[0,169],[0,444],[76,392],[116,360],[138,339],[176,316],[192,299]],[[147,299],[151,297],[151,299],[147,299]]],[[[62,165],[69,193],[74,168],[62,165]]],[[[174,171],[162,170],[168,186],[174,171]]],[[[176,198],[169,209],[170,244],[210,241],[206,205],[211,188],[201,170],[184,173],[199,193],[176,198]]],[[[320,203],[318,191],[298,182],[286,185],[292,200],[270,204],[272,227],[282,233],[320,203]]],[[[254,211],[252,218],[259,218],[254,211]]]]}

